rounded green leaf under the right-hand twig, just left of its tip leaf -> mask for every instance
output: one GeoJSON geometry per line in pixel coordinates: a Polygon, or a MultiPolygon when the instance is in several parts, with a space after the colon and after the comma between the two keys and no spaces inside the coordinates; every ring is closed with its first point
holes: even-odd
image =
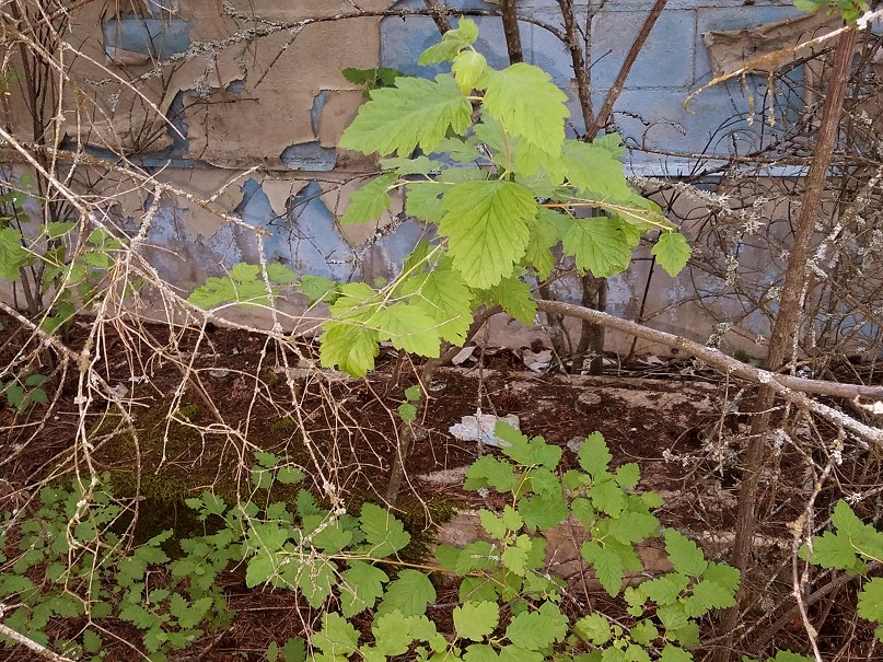
{"type": "Polygon", "coordinates": [[[567,255],[577,268],[596,278],[608,278],[624,271],[631,263],[631,248],[618,223],[607,217],[577,219],[564,236],[567,255]]]}

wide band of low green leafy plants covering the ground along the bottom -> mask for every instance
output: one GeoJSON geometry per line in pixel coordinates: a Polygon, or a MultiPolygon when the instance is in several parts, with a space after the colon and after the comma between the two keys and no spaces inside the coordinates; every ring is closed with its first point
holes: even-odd
{"type": "MultiPolygon", "coordinates": [[[[321,609],[307,638],[271,642],[268,660],[690,660],[699,619],[733,604],[739,572],[708,561],[695,543],[667,530],[673,570],[626,585],[640,577],[637,546],[661,535],[652,511],[662,500],[637,490],[638,466],[612,467],[599,433],[580,448],[579,468],[567,471],[561,449],[542,437],[528,439],[504,423],[496,434],[507,445],[473,463],[464,484],[496,503],[477,513],[483,536],[462,548],[440,546],[434,562],[419,565],[399,558],[411,537],[384,508],[363,503],[351,514],[321,506],[304,489],[292,501],[272,501],[277,484],[304,478],[301,467],[275,453],[255,453],[249,499],[228,504],[206,490],[186,500],[206,533],[179,539],[174,560],[163,550],[169,531],[127,549],[108,529],[121,508],[104,487],[106,476],[44,488],[38,511],[18,523],[7,514],[0,529],[18,526],[10,537],[16,558],[0,574],[0,600],[18,605],[4,624],[97,662],[102,622],[116,618],[141,631],[148,659],[163,661],[230,624],[219,577],[241,567],[247,588],[297,591],[321,609]],[[620,599],[615,615],[595,609],[574,619],[561,609],[566,583],[550,572],[545,533],[565,522],[582,524],[581,556],[604,590],[620,599]],[[165,579],[149,581],[158,569],[163,572],[154,577],[165,579]],[[458,582],[451,632],[428,617],[437,601],[430,572],[458,582]],[[97,627],[50,641],[50,619],[82,616],[97,627]]],[[[2,541],[0,549],[8,547],[2,541]]]]}

